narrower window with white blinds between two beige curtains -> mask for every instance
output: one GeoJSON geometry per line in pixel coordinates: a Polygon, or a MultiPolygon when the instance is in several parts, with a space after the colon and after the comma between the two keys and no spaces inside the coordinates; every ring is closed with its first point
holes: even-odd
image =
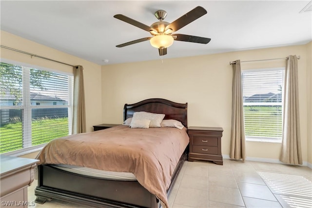
{"type": "Polygon", "coordinates": [[[243,71],[242,83],[246,139],[280,141],[284,68],[243,71]]]}

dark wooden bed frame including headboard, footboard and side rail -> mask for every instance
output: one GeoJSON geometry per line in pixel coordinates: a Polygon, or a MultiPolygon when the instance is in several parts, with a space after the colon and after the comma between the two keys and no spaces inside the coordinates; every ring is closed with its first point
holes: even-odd
{"type": "MultiPolygon", "coordinates": [[[[187,127],[187,103],[179,104],[165,99],[147,99],[135,104],[124,105],[124,120],[134,112],[146,111],[165,114],[164,119],[175,119],[187,127]]],[[[176,178],[185,160],[188,147],[182,154],[167,190],[169,197],[176,178]]],[[[38,166],[38,186],[35,202],[59,199],[80,205],[106,208],[159,208],[161,204],[155,195],[137,181],[122,181],[84,176],[64,171],[50,165],[38,166]]]]}

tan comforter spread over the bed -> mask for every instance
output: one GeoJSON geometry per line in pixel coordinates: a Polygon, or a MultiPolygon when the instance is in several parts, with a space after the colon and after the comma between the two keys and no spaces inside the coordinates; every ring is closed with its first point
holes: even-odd
{"type": "Polygon", "coordinates": [[[68,164],[132,172],[168,208],[166,190],[189,143],[186,128],[112,128],[54,139],[41,150],[41,164],[68,164]]]}

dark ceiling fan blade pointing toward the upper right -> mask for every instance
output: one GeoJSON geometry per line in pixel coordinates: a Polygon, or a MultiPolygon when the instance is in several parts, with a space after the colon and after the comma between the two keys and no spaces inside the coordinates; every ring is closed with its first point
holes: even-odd
{"type": "Polygon", "coordinates": [[[189,11],[182,17],[171,22],[169,25],[167,25],[165,30],[167,30],[168,28],[171,28],[173,32],[176,32],[177,30],[181,29],[185,25],[191,23],[192,21],[197,20],[198,18],[200,18],[201,16],[205,14],[207,14],[207,11],[203,7],[197,6],[195,9],[189,11]]]}

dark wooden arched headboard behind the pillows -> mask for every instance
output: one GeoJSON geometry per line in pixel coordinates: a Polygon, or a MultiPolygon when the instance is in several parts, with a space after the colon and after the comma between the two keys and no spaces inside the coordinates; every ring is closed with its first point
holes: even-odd
{"type": "Polygon", "coordinates": [[[134,112],[146,111],[165,114],[164,119],[175,119],[187,126],[187,103],[180,104],[161,98],[151,98],[135,104],[125,104],[123,120],[133,117],[134,112]]]}

